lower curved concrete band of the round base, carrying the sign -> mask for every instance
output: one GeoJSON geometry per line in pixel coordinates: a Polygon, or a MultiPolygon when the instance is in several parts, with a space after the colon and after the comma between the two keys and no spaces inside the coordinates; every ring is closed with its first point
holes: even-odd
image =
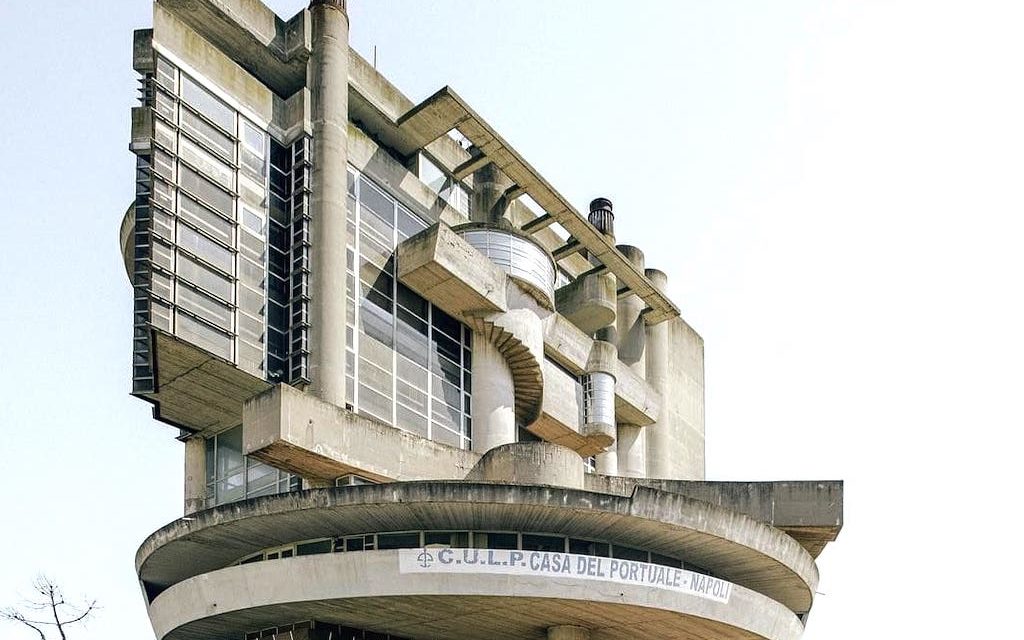
{"type": "Polygon", "coordinates": [[[622,583],[488,573],[401,573],[398,551],[232,566],[179,583],[150,617],[160,640],[241,638],[286,621],[321,620],[431,640],[541,639],[555,625],[601,640],[797,640],[782,605],[733,587],[727,603],[622,583]]]}

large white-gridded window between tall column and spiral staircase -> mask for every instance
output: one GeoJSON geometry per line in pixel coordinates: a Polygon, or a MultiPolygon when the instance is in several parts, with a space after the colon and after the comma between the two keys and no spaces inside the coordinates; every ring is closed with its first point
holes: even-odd
{"type": "Polygon", "coordinates": [[[348,186],[347,397],[360,414],[469,449],[471,331],[395,278],[427,223],[365,176],[348,186]]]}

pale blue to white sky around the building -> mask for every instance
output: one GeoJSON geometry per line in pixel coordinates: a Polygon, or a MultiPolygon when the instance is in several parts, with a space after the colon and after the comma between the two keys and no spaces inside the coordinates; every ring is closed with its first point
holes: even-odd
{"type": "MultiPolygon", "coordinates": [[[[710,479],[846,480],[807,640],[1007,635],[1019,3],[350,5],[414,101],[450,84],[579,208],[614,201],[705,337],[710,479]]],[[[150,12],[0,3],[0,604],[50,573],[104,606],[81,638],[152,637],[134,553],[181,511],[117,247],[150,12]]]]}

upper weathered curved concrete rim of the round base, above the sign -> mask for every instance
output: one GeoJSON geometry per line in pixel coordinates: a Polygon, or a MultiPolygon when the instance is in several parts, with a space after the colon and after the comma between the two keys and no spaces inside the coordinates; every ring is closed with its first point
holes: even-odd
{"type": "Polygon", "coordinates": [[[705,566],[798,612],[817,586],[811,556],[753,518],[655,489],[632,496],[465,481],[312,489],[201,511],[153,534],[136,554],[160,590],[245,555],[316,538],[375,531],[520,530],[638,547],[705,566]]]}

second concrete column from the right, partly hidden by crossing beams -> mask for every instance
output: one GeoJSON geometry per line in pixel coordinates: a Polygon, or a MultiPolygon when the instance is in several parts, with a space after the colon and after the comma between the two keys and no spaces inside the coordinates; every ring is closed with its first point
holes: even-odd
{"type": "MultiPolygon", "coordinates": [[[[636,247],[616,247],[641,271],[644,267],[643,252],[636,247]]],[[[620,285],[620,289],[622,285],[620,285]]],[[[641,312],[644,302],[640,296],[630,294],[618,300],[615,312],[615,339],[618,359],[641,378],[647,375],[644,358],[645,326],[641,312]]],[[[646,431],[633,425],[618,425],[618,475],[642,478],[647,475],[646,431]]]]}

